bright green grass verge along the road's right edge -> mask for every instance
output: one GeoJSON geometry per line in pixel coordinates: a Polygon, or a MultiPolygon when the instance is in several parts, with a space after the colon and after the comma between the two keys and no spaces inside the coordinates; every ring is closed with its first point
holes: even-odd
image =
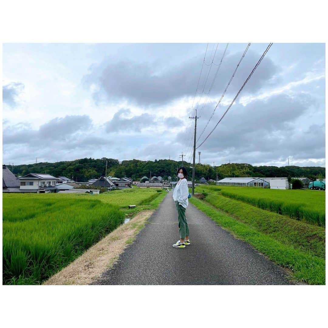
{"type": "Polygon", "coordinates": [[[256,228],[236,220],[195,197],[191,197],[189,201],[222,228],[230,231],[236,238],[251,244],[278,265],[290,269],[297,281],[312,285],[325,284],[324,258],[314,256],[310,252],[302,252],[291,245],[285,245],[272,236],[259,232],[256,228]]]}

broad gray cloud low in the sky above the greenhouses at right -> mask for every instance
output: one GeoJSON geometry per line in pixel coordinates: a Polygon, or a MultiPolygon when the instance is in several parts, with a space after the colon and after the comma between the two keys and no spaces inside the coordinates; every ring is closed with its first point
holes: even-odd
{"type": "MultiPolygon", "coordinates": [[[[202,151],[203,158],[220,158],[223,163],[229,162],[229,159],[243,163],[279,161],[279,158],[288,156],[298,159],[324,158],[324,124],[306,126],[306,116],[315,104],[315,100],[302,93],[295,98],[281,94],[246,106],[236,104],[197,151],[202,151]]],[[[204,108],[203,117],[209,117],[213,105],[208,104],[204,108]]],[[[197,147],[226,108],[216,109],[209,126],[196,143],[197,147]]],[[[197,122],[198,135],[205,123],[205,120],[197,122]]],[[[182,143],[185,136],[186,132],[178,133],[176,141],[182,143]]]]}

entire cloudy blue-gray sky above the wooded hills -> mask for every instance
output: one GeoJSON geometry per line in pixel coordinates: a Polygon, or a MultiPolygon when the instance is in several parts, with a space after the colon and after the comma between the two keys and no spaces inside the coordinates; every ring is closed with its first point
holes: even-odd
{"type": "MultiPolygon", "coordinates": [[[[247,42],[4,44],[3,163],[192,161],[188,117],[197,108],[198,147],[268,44],[244,57],[247,42]]],[[[325,166],[325,45],[273,44],[198,151],[211,165],[325,166]]]]}

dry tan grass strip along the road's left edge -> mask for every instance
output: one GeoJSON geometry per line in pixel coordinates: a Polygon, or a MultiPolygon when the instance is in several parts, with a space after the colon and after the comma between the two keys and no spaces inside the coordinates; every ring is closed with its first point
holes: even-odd
{"type": "Polygon", "coordinates": [[[97,280],[104,271],[113,266],[125,247],[132,243],[153,212],[154,210],[139,212],[128,223],[112,231],[42,285],[87,285],[97,280]]]}

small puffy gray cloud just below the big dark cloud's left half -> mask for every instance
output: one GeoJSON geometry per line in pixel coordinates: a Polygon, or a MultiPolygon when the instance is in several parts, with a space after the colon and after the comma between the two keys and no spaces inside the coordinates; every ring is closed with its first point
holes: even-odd
{"type": "Polygon", "coordinates": [[[131,118],[125,116],[131,114],[130,109],[120,109],[114,114],[111,121],[105,123],[105,131],[107,133],[118,131],[135,131],[141,132],[142,128],[149,127],[155,119],[155,115],[144,113],[131,118]]]}

